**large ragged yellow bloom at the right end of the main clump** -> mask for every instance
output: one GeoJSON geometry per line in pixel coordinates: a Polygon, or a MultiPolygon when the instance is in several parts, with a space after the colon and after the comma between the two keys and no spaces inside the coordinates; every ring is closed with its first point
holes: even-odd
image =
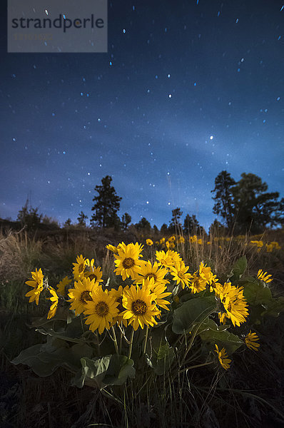
{"type": "Polygon", "coordinates": [[[240,327],[248,317],[248,304],[243,296],[243,287],[234,287],[230,282],[225,282],[223,286],[215,284],[215,295],[223,305],[223,311],[218,314],[220,322],[225,322],[225,318],[228,318],[234,327],[240,327]]]}

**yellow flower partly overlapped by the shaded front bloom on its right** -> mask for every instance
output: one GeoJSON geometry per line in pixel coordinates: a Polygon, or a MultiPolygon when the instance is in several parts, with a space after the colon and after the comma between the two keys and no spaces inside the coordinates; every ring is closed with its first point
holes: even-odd
{"type": "Polygon", "coordinates": [[[86,309],[86,303],[92,300],[91,291],[98,287],[97,283],[90,278],[83,277],[81,280],[74,282],[74,288],[69,290],[71,302],[70,309],[75,310],[75,314],[79,315],[86,309]]]}

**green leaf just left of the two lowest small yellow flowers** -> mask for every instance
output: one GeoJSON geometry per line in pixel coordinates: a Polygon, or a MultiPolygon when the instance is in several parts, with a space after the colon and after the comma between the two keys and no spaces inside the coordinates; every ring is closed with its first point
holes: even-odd
{"type": "Polygon", "coordinates": [[[206,323],[202,323],[203,331],[199,334],[201,340],[204,342],[211,342],[219,347],[225,347],[225,350],[229,354],[233,354],[235,350],[243,345],[243,340],[240,337],[233,335],[233,333],[223,330],[223,326],[218,327],[218,325],[211,319],[208,319],[206,323]],[[204,329],[207,324],[207,329],[204,329]]]}

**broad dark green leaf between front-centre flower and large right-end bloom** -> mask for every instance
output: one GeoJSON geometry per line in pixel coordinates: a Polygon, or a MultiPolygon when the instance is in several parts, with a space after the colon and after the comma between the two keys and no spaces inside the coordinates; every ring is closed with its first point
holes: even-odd
{"type": "Polygon", "coordinates": [[[189,332],[194,324],[203,322],[216,308],[215,297],[197,297],[188,300],[173,311],[174,333],[189,332]]]}

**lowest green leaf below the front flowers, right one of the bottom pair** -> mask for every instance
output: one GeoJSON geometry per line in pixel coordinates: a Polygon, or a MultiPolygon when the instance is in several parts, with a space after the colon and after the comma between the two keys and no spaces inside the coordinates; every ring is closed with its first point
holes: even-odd
{"type": "Polygon", "coordinates": [[[125,355],[111,355],[111,361],[103,378],[104,385],[122,385],[126,379],[135,377],[133,360],[125,355]]]}

